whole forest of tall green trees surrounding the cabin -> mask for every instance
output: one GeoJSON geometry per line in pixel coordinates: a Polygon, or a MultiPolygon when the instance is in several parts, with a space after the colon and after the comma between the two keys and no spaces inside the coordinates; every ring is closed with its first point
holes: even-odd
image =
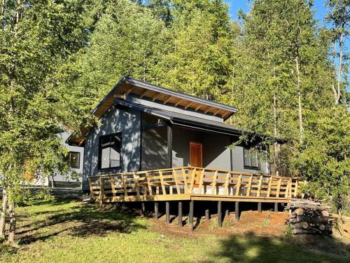
{"type": "Polygon", "coordinates": [[[55,134],[90,123],[122,76],[237,107],[229,124],[286,140],[265,142],[274,174],[302,177],[305,193],[349,215],[349,0],[325,0],[322,23],[311,0],[254,0],[238,20],[223,0],[1,3],[0,180],[9,241],[15,205],[34,198],[22,182],[69,170],[55,134]]]}

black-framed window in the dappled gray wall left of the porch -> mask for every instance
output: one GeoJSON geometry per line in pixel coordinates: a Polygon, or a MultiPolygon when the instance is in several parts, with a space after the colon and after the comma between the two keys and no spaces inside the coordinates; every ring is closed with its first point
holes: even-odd
{"type": "Polygon", "coordinates": [[[120,167],[120,145],[122,134],[116,133],[99,137],[99,169],[120,167]]]}

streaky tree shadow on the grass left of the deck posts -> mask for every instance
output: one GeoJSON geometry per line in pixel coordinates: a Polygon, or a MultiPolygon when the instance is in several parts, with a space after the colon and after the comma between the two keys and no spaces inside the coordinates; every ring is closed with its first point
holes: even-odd
{"type": "MultiPolygon", "coordinates": [[[[70,203],[71,200],[49,203],[59,205],[70,203]]],[[[47,202],[43,202],[46,204],[47,202]]],[[[42,203],[38,203],[41,205],[42,203]]],[[[65,234],[70,236],[106,236],[107,234],[130,234],[137,229],[144,229],[144,225],[137,222],[137,214],[125,208],[109,207],[100,209],[94,205],[76,205],[69,210],[36,212],[48,215],[44,220],[30,222],[18,229],[19,245],[30,244],[36,241],[45,241],[47,238],[65,234]]],[[[33,215],[33,214],[31,214],[33,215]]]]}

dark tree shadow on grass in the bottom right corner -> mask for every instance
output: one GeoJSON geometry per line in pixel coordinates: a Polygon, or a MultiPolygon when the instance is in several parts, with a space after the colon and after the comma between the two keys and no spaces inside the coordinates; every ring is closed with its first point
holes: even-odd
{"type": "Polygon", "coordinates": [[[350,246],[329,236],[269,238],[249,231],[223,239],[212,256],[229,262],[350,262],[350,246]]]}

